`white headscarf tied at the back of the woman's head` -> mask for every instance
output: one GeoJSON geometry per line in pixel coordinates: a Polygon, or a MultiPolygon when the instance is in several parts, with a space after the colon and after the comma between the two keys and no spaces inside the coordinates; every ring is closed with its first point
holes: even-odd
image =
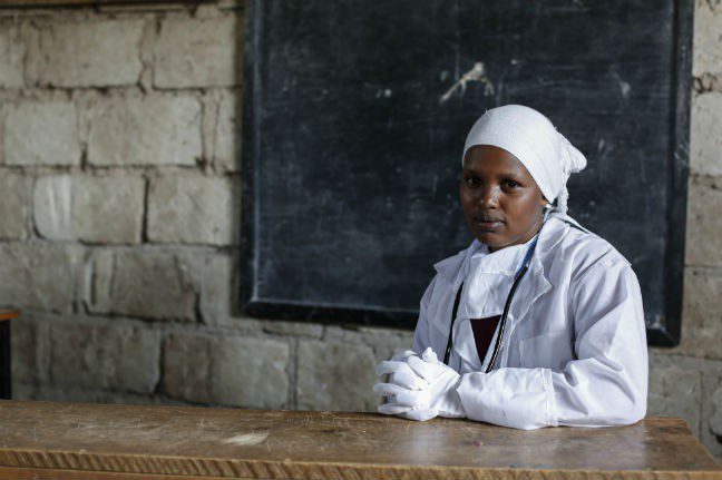
{"type": "Polygon", "coordinates": [[[533,108],[505,105],[487,110],[471,127],[464,146],[464,157],[475,145],[504,148],[524,164],[549,202],[558,198],[553,215],[567,216],[569,175],[586,167],[584,154],[577,150],[552,121],[533,108]]]}

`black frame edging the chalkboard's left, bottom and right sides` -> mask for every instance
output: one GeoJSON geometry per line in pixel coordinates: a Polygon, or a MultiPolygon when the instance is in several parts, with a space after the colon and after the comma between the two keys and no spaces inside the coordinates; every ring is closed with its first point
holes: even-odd
{"type": "MultiPolygon", "coordinates": [[[[257,180],[256,145],[262,133],[256,118],[261,91],[262,25],[254,12],[263,0],[248,1],[245,17],[244,42],[244,104],[242,147],[242,208],[241,208],[241,259],[238,302],[248,315],[274,320],[314,321],[320,323],[373,324],[389,327],[416,325],[416,311],[343,308],[330,305],[308,306],[293,302],[260,298],[256,294],[257,239],[255,226],[258,221],[256,202],[260,192],[257,180]]],[[[667,168],[667,225],[686,225],[686,195],[689,177],[690,101],[692,88],[692,28],[694,3],[692,0],[672,0],[674,3],[674,71],[671,72],[672,91],[676,101],[671,116],[670,151],[667,168]]],[[[685,228],[669,228],[665,253],[664,298],[669,316],[654,325],[647,325],[647,342],[655,346],[675,346],[680,343],[682,327],[682,292],[684,278],[685,228]]]]}

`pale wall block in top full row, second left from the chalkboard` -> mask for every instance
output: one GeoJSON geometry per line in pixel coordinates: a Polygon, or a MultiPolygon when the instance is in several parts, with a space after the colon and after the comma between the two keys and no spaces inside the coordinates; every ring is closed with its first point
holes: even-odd
{"type": "Polygon", "coordinates": [[[145,21],[53,21],[41,25],[29,52],[31,82],[53,87],[117,87],[140,78],[145,21]]]}

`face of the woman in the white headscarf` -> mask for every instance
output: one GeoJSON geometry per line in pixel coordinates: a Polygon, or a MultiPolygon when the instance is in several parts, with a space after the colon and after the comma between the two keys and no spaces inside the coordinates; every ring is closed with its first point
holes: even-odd
{"type": "Polygon", "coordinates": [[[459,195],[469,228],[491,252],[525,243],[542,227],[547,202],[524,164],[503,148],[467,150],[459,195]]]}

